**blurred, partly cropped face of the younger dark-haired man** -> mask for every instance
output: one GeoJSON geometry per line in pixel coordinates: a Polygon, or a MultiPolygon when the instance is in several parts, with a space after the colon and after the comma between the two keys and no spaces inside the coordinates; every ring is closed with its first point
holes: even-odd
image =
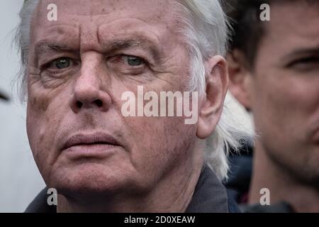
{"type": "Polygon", "coordinates": [[[319,185],[319,9],[273,4],[247,76],[245,104],[269,157],[319,185]]]}

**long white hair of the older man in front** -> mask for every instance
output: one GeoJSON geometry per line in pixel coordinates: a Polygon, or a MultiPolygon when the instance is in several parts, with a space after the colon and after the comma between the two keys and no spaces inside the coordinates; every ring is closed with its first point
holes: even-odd
{"type": "MultiPolygon", "coordinates": [[[[20,12],[21,23],[16,33],[16,42],[21,52],[21,97],[26,99],[26,67],[30,44],[30,23],[39,0],[26,0],[20,12]]],[[[198,90],[200,96],[206,90],[204,62],[214,55],[225,56],[228,44],[228,20],[219,0],[177,0],[176,16],[181,21],[180,32],[188,47],[191,60],[191,77],[188,87],[198,90]]],[[[212,135],[206,139],[205,162],[216,172],[218,179],[227,179],[228,150],[240,148],[240,143],[250,135],[234,121],[227,104],[212,135]]]]}

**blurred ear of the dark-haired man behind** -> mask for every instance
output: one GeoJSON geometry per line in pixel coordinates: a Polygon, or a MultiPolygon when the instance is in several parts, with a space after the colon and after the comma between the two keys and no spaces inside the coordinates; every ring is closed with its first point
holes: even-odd
{"type": "Polygon", "coordinates": [[[235,99],[249,110],[251,109],[250,83],[252,74],[248,70],[245,56],[240,50],[233,50],[233,52],[228,53],[227,61],[230,78],[229,90],[235,99]]]}

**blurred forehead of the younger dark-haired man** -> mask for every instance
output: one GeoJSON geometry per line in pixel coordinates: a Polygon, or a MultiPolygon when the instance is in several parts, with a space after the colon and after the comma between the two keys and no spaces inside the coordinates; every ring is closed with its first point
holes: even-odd
{"type": "Polygon", "coordinates": [[[319,45],[319,4],[305,1],[273,4],[271,20],[265,26],[265,48],[281,50],[283,55],[295,49],[317,49],[319,45]],[[283,16],[284,15],[284,16],[283,16]]]}

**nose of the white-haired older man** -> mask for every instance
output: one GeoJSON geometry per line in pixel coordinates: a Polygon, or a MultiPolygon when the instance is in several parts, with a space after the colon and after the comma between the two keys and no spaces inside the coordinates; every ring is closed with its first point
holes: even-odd
{"type": "MultiPolygon", "coordinates": [[[[83,109],[99,109],[108,111],[111,106],[111,96],[103,87],[99,59],[94,55],[82,60],[79,77],[74,84],[71,108],[74,113],[83,109]]],[[[106,79],[106,78],[105,78],[106,79]]]]}

